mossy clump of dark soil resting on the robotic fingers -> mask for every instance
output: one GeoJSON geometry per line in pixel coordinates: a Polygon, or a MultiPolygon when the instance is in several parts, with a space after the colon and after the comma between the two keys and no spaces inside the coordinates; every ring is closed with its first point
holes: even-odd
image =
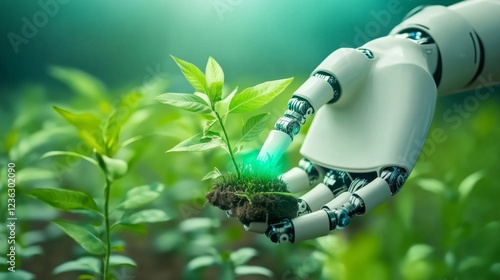
{"type": "Polygon", "coordinates": [[[278,223],[297,216],[297,199],[277,177],[244,173],[221,176],[206,195],[208,202],[222,210],[231,210],[243,224],[278,223]]]}

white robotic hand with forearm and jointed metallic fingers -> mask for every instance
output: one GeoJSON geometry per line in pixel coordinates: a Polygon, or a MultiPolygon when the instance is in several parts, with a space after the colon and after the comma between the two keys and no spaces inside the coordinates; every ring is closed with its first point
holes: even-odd
{"type": "Polygon", "coordinates": [[[271,241],[327,235],[395,195],[425,142],[436,96],[500,82],[498,15],[495,0],[417,8],[390,35],[329,55],[258,156],[276,163],[316,113],[305,158],[281,178],[291,192],[323,182],[300,197],[298,217],[267,228],[271,241]]]}

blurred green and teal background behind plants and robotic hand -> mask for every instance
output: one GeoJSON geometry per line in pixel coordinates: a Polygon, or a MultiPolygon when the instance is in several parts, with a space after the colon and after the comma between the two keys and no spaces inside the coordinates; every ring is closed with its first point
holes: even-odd
{"type": "MultiPolygon", "coordinates": [[[[125,253],[138,264],[121,271],[123,279],[215,279],[223,266],[197,267],[193,260],[243,247],[253,248],[248,263],[269,269],[272,279],[500,278],[498,86],[482,91],[486,100],[475,92],[438,100],[430,135],[444,137],[428,139],[395,199],[346,230],[280,246],[245,233],[237,221],[204,205],[209,184],[200,179],[213,166],[227,169],[227,157],[218,151],[164,154],[199,132],[202,120],[152,101],[167,91],[192,92],[169,55],[202,69],[213,56],[224,69],[227,90],[295,77],[286,93],[263,108],[274,120],[293,89],[335,49],[387,34],[416,6],[455,2],[2,1],[0,152],[2,166],[15,162],[18,171],[18,265],[35,279],[76,279],[76,274],[51,271],[83,253],[49,223],[61,214],[24,197],[23,190],[61,187],[98,197],[102,188],[102,175],[84,162],[40,160],[51,150],[91,155],[52,106],[105,114],[120,96],[141,91],[146,98],[123,129],[122,141],[146,137],[119,154],[131,170],[112,195],[118,201],[132,186],[162,182],[166,191],[157,206],[171,220],[120,232],[125,253]],[[457,106],[465,109],[459,112],[457,106]]],[[[233,134],[239,124],[234,126],[233,134]]],[[[283,169],[300,159],[300,139],[283,169]]],[[[1,184],[4,220],[5,179],[1,184]]],[[[2,255],[5,234],[2,229],[2,255]]]]}

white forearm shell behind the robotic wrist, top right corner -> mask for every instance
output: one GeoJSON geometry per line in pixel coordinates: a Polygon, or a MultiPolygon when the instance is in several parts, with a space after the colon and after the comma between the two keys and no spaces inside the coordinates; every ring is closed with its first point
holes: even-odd
{"type": "Polygon", "coordinates": [[[396,26],[391,34],[416,28],[434,39],[442,65],[438,92],[450,94],[500,82],[499,15],[498,0],[428,6],[396,26]],[[476,75],[478,71],[482,79],[476,75]]]}

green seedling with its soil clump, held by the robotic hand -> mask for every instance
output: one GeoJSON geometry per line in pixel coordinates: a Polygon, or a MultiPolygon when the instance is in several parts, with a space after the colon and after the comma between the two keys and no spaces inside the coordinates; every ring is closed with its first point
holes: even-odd
{"type": "Polygon", "coordinates": [[[209,57],[205,73],[202,73],[195,65],[176,57],[172,58],[193,86],[195,93],[165,93],[157,96],[156,100],[201,114],[208,120],[202,132],[182,141],[167,152],[198,152],[215,148],[226,151],[234,172],[222,176],[215,167],[202,180],[216,180],[214,188],[207,194],[208,201],[223,210],[232,210],[243,223],[279,221],[294,216],[297,212],[296,199],[288,193],[286,185],[277,179],[276,174],[258,165],[247,166],[242,170],[236,159],[236,155],[243,149],[243,144],[255,140],[266,128],[269,113],[257,114],[247,119],[238,141],[231,139],[226,127],[230,116],[249,113],[266,105],[283,92],[293,78],[264,82],[240,93],[237,93],[236,88],[225,95],[224,72],[215,59],[209,57]],[[242,210],[242,207],[250,209],[242,210]],[[260,209],[256,210],[256,207],[260,209]],[[270,209],[280,211],[285,208],[285,211],[276,215],[269,213],[270,209]]]}

